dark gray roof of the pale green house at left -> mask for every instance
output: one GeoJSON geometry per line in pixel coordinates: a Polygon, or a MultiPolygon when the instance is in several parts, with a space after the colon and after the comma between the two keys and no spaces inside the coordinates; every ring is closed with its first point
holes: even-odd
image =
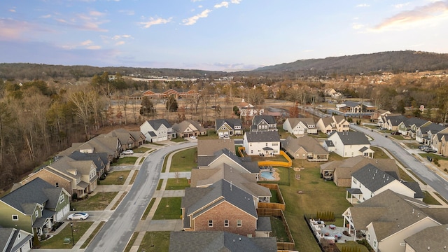
{"type": "Polygon", "coordinates": [[[29,215],[34,211],[36,204],[41,204],[46,209],[55,208],[61,193],[62,188],[55,188],[43,179],[36,178],[3,196],[0,200],[29,215]]]}

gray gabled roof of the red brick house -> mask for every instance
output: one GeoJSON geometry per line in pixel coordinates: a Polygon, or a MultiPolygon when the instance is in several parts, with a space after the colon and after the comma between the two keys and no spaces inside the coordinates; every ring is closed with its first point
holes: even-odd
{"type": "Polygon", "coordinates": [[[252,195],[223,179],[216,181],[209,188],[186,188],[185,196],[182,198],[182,207],[186,209],[185,218],[191,214],[208,211],[222,201],[227,201],[254,218],[258,218],[252,195]]]}

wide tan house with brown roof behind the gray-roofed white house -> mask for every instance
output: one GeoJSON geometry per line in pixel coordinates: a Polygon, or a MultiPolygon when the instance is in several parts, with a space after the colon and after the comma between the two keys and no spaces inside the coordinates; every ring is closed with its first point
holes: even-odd
{"type": "MultiPolygon", "coordinates": [[[[332,180],[336,186],[350,187],[351,174],[365,165],[372,164],[383,172],[399,174],[395,160],[390,158],[364,158],[357,156],[346,160],[337,160],[321,165],[321,176],[325,180],[332,180]]],[[[400,178],[398,178],[400,179],[400,178]]]]}

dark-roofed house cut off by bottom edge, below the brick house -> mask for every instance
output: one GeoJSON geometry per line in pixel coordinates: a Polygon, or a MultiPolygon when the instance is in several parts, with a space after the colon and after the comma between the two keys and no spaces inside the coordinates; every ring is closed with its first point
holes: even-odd
{"type": "Polygon", "coordinates": [[[276,252],[275,237],[246,237],[231,232],[171,232],[169,252],[276,252]]]}

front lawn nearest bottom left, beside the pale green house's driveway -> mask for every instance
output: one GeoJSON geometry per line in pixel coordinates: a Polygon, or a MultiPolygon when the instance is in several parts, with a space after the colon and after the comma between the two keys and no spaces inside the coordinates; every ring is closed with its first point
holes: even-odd
{"type": "MultiPolygon", "coordinates": [[[[84,233],[90,228],[93,224],[92,221],[73,221],[73,241],[76,244],[76,241],[84,235],[84,233]]],[[[41,247],[45,249],[71,249],[73,246],[71,245],[71,226],[66,225],[63,230],[61,230],[57,235],[47,239],[45,241],[41,241],[41,247]],[[69,238],[70,243],[64,244],[64,238],[69,238]]]]}

